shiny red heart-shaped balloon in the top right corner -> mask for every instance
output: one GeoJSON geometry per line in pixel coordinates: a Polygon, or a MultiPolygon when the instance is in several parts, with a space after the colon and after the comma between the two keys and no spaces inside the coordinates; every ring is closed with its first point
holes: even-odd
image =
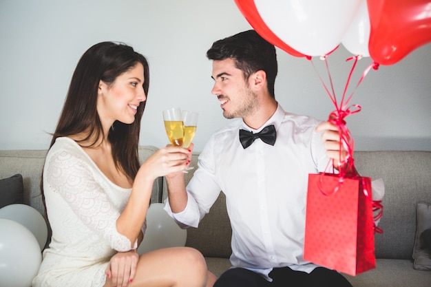
{"type": "Polygon", "coordinates": [[[367,0],[371,58],[392,65],[431,42],[430,0],[367,0]]]}

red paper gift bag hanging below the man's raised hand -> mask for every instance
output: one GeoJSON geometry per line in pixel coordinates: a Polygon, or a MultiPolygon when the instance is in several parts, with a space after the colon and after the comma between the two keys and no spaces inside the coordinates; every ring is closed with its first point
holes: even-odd
{"type": "Polygon", "coordinates": [[[348,275],[375,268],[370,178],[308,176],[304,259],[348,275]]]}

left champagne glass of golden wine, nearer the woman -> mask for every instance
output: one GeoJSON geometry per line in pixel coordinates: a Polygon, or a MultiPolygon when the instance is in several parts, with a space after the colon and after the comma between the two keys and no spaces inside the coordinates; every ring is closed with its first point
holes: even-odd
{"type": "Polygon", "coordinates": [[[163,120],[165,121],[166,134],[171,144],[176,147],[182,147],[184,141],[184,124],[182,123],[182,114],[179,107],[171,107],[163,111],[163,120]]]}

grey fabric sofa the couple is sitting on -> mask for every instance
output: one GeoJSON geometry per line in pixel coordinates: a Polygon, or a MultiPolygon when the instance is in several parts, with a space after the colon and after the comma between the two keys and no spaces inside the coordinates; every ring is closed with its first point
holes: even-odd
{"type": "MultiPolygon", "coordinates": [[[[140,147],[140,160],[150,156],[156,147],[140,147]]],[[[0,179],[16,173],[23,176],[25,204],[45,216],[39,190],[45,150],[0,151],[0,179]]],[[[191,164],[197,166],[198,153],[191,164]]],[[[355,277],[345,275],[354,287],[430,287],[431,271],[413,268],[412,251],[417,226],[417,202],[431,202],[431,151],[356,151],[355,164],[362,176],[382,178],[386,193],[383,217],[375,235],[377,268],[355,277]]],[[[188,181],[193,171],[186,173],[188,181]]],[[[162,202],[167,195],[162,178],[154,182],[151,202],[162,202]]],[[[1,196],[1,195],[0,195],[1,196]]],[[[186,246],[197,248],[207,259],[209,270],[220,275],[231,267],[231,226],[224,195],[215,202],[198,228],[187,230],[186,246]]]]}

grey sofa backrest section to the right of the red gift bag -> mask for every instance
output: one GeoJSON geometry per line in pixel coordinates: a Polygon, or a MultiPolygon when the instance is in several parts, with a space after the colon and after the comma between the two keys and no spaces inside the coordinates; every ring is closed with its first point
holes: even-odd
{"type": "Polygon", "coordinates": [[[416,204],[431,202],[431,151],[357,151],[354,158],[361,176],[385,184],[376,257],[412,259],[416,204]]]}

